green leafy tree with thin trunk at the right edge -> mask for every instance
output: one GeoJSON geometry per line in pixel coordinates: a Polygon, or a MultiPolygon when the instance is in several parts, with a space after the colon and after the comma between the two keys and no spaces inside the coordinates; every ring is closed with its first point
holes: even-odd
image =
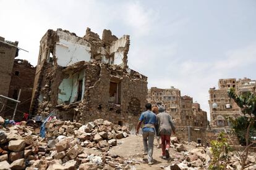
{"type": "Polygon", "coordinates": [[[256,96],[252,94],[251,92],[247,92],[245,94],[237,95],[235,89],[232,87],[228,90],[228,95],[231,97],[231,99],[234,100],[234,102],[237,103],[238,107],[241,108],[242,113],[244,114],[244,118],[237,118],[236,123],[239,123],[237,125],[239,126],[233,126],[234,131],[238,131],[241,127],[241,124],[243,124],[246,128],[246,131],[244,133],[244,139],[245,139],[245,149],[243,152],[238,153],[241,161],[242,169],[245,168],[245,161],[247,160],[249,148],[255,144],[254,141],[250,140],[250,130],[251,127],[254,126],[255,123],[255,117],[256,117],[256,96]],[[236,129],[237,127],[237,129],[236,129]]]}

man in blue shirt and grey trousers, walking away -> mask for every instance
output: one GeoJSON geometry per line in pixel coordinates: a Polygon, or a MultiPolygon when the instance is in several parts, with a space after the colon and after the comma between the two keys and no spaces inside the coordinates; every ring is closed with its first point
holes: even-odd
{"type": "Polygon", "coordinates": [[[156,124],[156,115],[151,111],[151,104],[147,103],[145,105],[147,111],[144,111],[142,115],[140,115],[139,123],[137,125],[136,135],[139,134],[139,129],[141,124],[142,127],[142,137],[143,137],[143,145],[144,145],[144,155],[148,155],[148,164],[153,164],[153,142],[155,137],[155,124],[156,124]]]}

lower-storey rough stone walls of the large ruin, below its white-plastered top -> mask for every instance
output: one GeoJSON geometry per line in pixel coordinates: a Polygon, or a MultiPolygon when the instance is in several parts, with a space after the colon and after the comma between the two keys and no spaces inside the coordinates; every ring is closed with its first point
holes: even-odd
{"type": "MultiPolygon", "coordinates": [[[[49,67],[45,71],[38,103],[38,115],[47,115],[54,110],[60,119],[87,123],[103,118],[124,125],[137,123],[147,102],[147,77],[136,71],[98,62],[79,62],[70,67],[49,67]],[[85,84],[82,100],[58,103],[60,84],[63,79],[72,78],[85,71],[85,84]],[[109,102],[110,82],[120,87],[120,103],[109,102]]],[[[73,88],[74,89],[74,88],[73,88]]],[[[130,126],[132,127],[132,126],[130,126]]]]}

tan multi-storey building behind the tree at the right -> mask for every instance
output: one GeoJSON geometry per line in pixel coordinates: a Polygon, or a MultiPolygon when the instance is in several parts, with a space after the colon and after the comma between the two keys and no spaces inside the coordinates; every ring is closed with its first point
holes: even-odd
{"type": "Polygon", "coordinates": [[[233,99],[228,97],[228,89],[234,87],[237,94],[244,92],[255,93],[255,81],[244,78],[238,79],[220,79],[218,82],[218,89],[215,87],[209,90],[210,100],[210,116],[211,116],[211,129],[216,131],[230,131],[231,123],[229,118],[237,118],[241,116],[241,110],[236,105],[233,99]]]}

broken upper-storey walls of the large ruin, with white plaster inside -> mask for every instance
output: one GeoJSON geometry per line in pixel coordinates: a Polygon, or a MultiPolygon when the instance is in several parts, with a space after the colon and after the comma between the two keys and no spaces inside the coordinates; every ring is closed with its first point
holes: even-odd
{"type": "Polygon", "coordinates": [[[30,113],[35,113],[38,106],[38,97],[42,88],[45,70],[53,67],[69,67],[77,62],[96,60],[100,63],[118,65],[128,69],[127,54],[130,39],[128,35],[121,38],[114,36],[110,30],[103,30],[102,39],[90,28],[87,28],[83,37],[70,33],[67,30],[48,30],[40,41],[38,65],[30,104],[30,113]]]}

